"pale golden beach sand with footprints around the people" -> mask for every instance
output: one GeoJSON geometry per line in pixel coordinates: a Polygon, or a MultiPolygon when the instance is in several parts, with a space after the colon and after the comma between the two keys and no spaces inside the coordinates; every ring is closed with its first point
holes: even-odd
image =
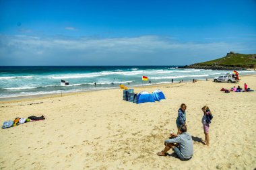
{"type": "Polygon", "coordinates": [[[166,100],[135,104],[123,101],[121,89],[46,96],[0,102],[0,124],[16,117],[45,116],[0,130],[0,169],[255,169],[256,92],[224,93],[222,87],[247,83],[256,90],[256,76],[237,84],[199,81],[152,87],[166,100]],[[34,104],[33,104],[34,103],[34,104]],[[158,157],[181,103],[187,105],[187,128],[194,140],[190,161],[158,157]],[[208,105],[210,146],[204,146],[201,108],[208,105]]]}

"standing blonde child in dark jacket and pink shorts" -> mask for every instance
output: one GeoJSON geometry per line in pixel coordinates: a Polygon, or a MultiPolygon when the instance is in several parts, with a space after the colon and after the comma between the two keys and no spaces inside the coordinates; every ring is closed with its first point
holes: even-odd
{"type": "Polygon", "coordinates": [[[203,106],[201,109],[203,111],[203,118],[202,118],[202,124],[203,124],[203,132],[205,134],[205,140],[204,143],[205,145],[209,146],[210,144],[210,137],[209,137],[209,124],[211,123],[212,120],[212,113],[207,105],[203,106]]]}

